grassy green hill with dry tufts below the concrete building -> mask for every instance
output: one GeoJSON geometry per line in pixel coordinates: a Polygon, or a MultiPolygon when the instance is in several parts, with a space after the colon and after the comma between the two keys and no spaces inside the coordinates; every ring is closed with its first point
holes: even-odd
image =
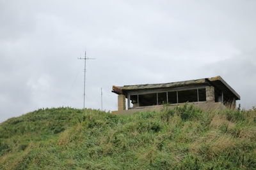
{"type": "Polygon", "coordinates": [[[0,124],[0,169],[256,169],[256,111],[40,109],[0,124]]]}

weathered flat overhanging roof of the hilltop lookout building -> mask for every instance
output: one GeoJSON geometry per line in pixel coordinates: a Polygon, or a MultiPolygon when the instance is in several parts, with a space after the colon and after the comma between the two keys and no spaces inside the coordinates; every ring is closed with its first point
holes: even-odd
{"type": "Polygon", "coordinates": [[[144,84],[144,85],[124,85],[121,87],[117,87],[113,85],[112,92],[116,94],[127,94],[129,91],[136,90],[154,90],[154,89],[172,89],[174,87],[185,87],[189,85],[211,85],[215,88],[221,90],[224,94],[228,94],[229,96],[233,96],[236,100],[240,100],[239,94],[228,85],[226,81],[221,78],[221,76],[216,76],[212,78],[201,78],[198,80],[188,80],[188,81],[177,81],[172,83],[157,83],[157,84],[144,84]]]}

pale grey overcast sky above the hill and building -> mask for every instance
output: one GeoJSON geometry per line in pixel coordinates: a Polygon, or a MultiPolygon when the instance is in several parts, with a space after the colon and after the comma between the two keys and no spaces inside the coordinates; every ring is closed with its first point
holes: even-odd
{"type": "Polygon", "coordinates": [[[38,108],[117,109],[112,85],[221,76],[256,106],[254,0],[0,0],[0,122],[38,108]]]}

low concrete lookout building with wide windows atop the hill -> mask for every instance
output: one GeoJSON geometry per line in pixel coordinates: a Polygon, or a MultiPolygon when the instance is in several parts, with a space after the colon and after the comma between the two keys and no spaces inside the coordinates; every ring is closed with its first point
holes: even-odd
{"type": "Polygon", "coordinates": [[[161,110],[164,104],[174,107],[193,103],[203,110],[235,108],[239,94],[221,76],[173,83],[113,86],[118,94],[118,111],[131,114],[136,111],[161,110]]]}

